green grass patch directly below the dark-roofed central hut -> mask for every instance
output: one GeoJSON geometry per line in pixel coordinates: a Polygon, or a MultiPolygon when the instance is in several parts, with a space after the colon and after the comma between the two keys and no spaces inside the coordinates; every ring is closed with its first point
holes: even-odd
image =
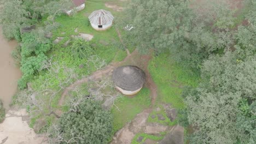
{"type": "Polygon", "coordinates": [[[149,107],[150,101],[149,89],[147,88],[143,88],[135,97],[123,96],[115,100],[115,105],[120,111],[117,107],[112,107],[111,112],[114,116],[113,131],[116,132],[123,128],[138,113],[149,107]]]}

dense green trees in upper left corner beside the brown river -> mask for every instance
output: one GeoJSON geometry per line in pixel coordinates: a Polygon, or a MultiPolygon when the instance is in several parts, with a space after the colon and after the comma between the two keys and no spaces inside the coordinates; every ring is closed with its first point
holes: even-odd
{"type": "Polygon", "coordinates": [[[18,81],[18,86],[23,89],[47,59],[46,52],[51,49],[52,41],[46,38],[46,35],[51,34],[51,31],[59,26],[54,22],[55,16],[71,8],[73,3],[70,0],[0,0],[0,2],[2,4],[0,23],[3,34],[6,38],[19,40],[21,43],[21,47],[14,52],[14,57],[21,65],[22,77],[18,81]],[[37,25],[42,17],[48,18],[44,23],[37,25]],[[32,25],[36,25],[36,29],[21,33],[22,28],[32,25]]]}

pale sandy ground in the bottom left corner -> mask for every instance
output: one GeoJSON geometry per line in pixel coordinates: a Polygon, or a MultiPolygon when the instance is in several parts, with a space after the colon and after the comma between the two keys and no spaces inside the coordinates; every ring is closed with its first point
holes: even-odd
{"type": "Polygon", "coordinates": [[[25,109],[9,110],[0,124],[0,144],[46,144],[45,138],[28,126],[25,109]]]}

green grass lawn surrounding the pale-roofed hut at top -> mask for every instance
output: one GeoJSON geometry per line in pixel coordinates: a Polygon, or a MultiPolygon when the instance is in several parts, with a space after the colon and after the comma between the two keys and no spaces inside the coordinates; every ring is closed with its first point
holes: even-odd
{"type": "MultiPolygon", "coordinates": [[[[115,23],[106,31],[96,31],[90,26],[88,16],[94,10],[106,9],[112,12],[113,16],[118,19],[121,16],[120,12],[113,11],[112,9],[104,6],[105,2],[111,2],[113,4],[121,5],[125,2],[120,1],[86,1],[85,9],[79,11],[74,16],[61,15],[56,18],[56,22],[60,23],[60,28],[53,32],[53,40],[57,37],[63,37],[64,39],[58,44],[64,44],[68,39],[71,39],[71,35],[77,35],[78,33],[87,33],[94,35],[92,43],[96,45],[97,54],[101,58],[106,59],[108,62],[121,61],[126,57],[124,50],[121,50],[121,44],[118,37],[118,33],[115,29],[115,23]],[[78,33],[75,33],[75,28],[78,28],[78,33]],[[117,56],[116,56],[117,55],[117,56]]],[[[59,47],[54,51],[59,52],[59,47]]]]}

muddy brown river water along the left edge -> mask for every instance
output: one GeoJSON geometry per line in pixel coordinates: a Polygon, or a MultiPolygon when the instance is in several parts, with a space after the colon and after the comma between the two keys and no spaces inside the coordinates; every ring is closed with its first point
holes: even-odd
{"type": "Polygon", "coordinates": [[[17,81],[21,77],[19,67],[15,65],[11,52],[18,43],[4,39],[0,27],[0,99],[4,108],[9,109],[13,95],[17,91],[17,81]]]}

